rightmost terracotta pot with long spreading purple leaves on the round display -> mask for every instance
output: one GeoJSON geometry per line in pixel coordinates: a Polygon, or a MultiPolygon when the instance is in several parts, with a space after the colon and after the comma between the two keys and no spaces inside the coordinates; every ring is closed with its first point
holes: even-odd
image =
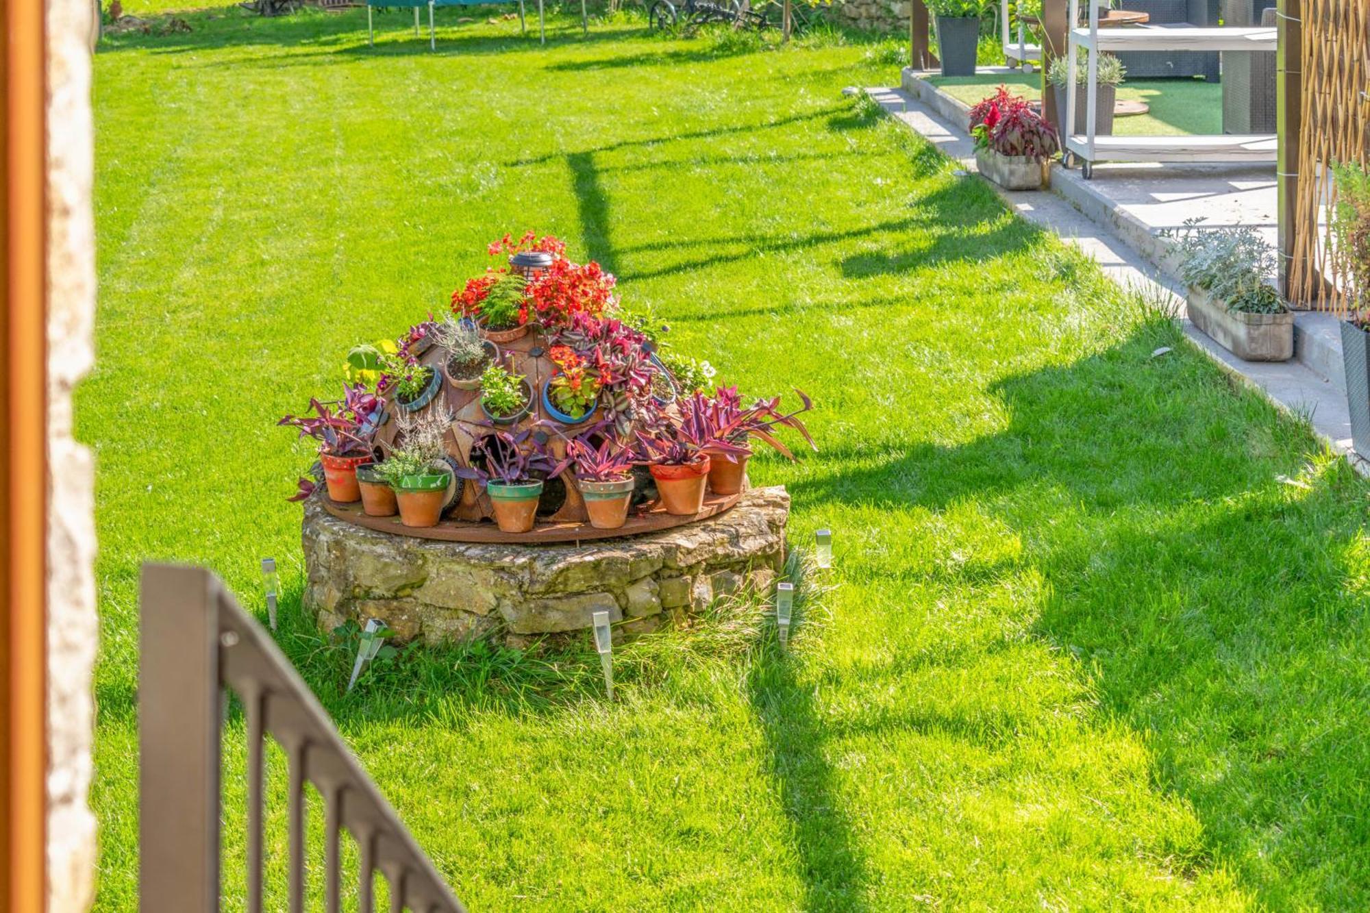
{"type": "Polygon", "coordinates": [[[715,440],[727,440],[738,450],[722,451],[707,448],[710,452],[708,488],[715,495],[736,495],[743,489],[747,478],[747,461],[752,456],[748,440],[755,437],[771,446],[786,459],[795,459],[795,454],[775,437],[774,430],[780,426],[797,430],[808,446],[814,450],[814,439],[804,428],[799,415],[814,407],[814,402],[801,389],[799,393],[801,409],[793,413],[780,411],[780,396],[771,399],[758,399],[751,406],[743,406],[743,398],[736,387],[721,388],[714,396],[695,393],[692,406],[701,414],[701,424],[708,435],[715,440]]]}

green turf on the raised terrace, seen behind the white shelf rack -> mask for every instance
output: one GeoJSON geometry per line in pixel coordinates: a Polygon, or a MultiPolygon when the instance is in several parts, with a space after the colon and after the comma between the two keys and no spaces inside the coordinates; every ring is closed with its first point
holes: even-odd
{"type": "MultiPolygon", "coordinates": [[[[975,104],[1007,85],[1015,95],[1041,97],[1041,74],[985,73],[973,77],[929,77],[929,82],[966,104],[975,104]]],[[[1222,86],[1203,80],[1126,80],[1118,100],[1145,101],[1147,114],[1114,118],[1115,136],[1203,136],[1222,133],[1222,86]]]]}

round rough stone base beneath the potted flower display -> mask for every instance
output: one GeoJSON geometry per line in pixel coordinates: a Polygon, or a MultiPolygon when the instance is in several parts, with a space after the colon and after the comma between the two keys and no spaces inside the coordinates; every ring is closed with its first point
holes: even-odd
{"type": "Polygon", "coordinates": [[[789,494],[754,488],[732,510],[659,533],[580,546],[448,543],[364,529],[304,504],[304,607],[332,629],[381,618],[399,640],[495,636],[523,644],[590,626],[626,633],[714,598],[769,592],[785,563],[789,494]]]}

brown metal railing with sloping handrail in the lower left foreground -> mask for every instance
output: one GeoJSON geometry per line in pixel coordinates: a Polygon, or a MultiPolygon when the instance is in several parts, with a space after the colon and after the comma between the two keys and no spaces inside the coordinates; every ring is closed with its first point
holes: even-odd
{"type": "Polygon", "coordinates": [[[371,783],[318,699],[262,626],[200,568],[142,569],[138,840],[144,910],[219,909],[223,688],[247,720],[247,909],[262,910],[263,748],[270,735],[289,764],[289,909],[304,909],[306,783],[325,807],[325,898],[338,909],[338,842],[358,846],[362,913],[374,905],[377,869],[390,910],[463,908],[371,783]]]}

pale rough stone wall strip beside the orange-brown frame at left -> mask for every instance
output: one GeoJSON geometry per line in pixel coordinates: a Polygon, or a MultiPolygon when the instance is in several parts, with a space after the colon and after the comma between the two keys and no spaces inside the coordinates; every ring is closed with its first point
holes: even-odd
{"type": "Polygon", "coordinates": [[[48,909],[95,894],[86,802],[95,702],[95,509],[90,454],[71,437],[71,388],[95,352],[89,0],[48,0],[48,909]]]}

